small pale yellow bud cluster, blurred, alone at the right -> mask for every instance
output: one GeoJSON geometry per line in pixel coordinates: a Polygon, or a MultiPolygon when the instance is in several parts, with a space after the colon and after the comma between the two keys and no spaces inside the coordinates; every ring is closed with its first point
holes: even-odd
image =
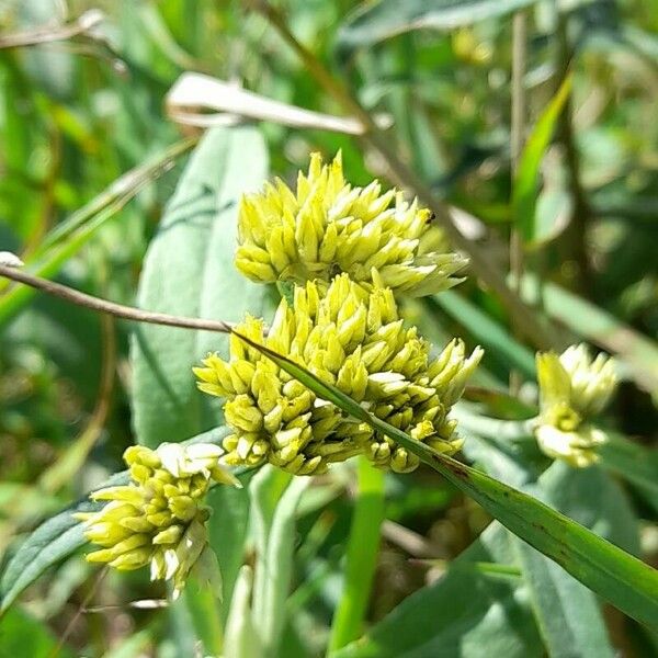
{"type": "Polygon", "coordinates": [[[585,344],[559,356],[537,354],[541,413],[535,436],[542,451],[579,468],[599,460],[597,447],[606,441],[589,419],[603,410],[616,386],[614,362],[605,354],[592,360],[585,344]]]}

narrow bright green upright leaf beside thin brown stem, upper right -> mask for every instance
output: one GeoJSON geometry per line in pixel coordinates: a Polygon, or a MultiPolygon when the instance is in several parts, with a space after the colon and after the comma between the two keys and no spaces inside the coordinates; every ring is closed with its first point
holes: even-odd
{"type": "Polygon", "coordinates": [[[519,162],[519,171],[512,192],[512,215],[514,224],[526,243],[540,239],[540,228],[535,224],[540,167],[558,118],[571,92],[571,76],[565,78],[555,97],[548,103],[532,129],[519,162]]]}

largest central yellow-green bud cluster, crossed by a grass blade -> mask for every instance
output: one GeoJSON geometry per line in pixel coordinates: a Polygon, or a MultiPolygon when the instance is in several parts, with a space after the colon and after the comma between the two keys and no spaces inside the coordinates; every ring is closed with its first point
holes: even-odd
{"type": "MultiPolygon", "coordinates": [[[[466,356],[454,340],[436,358],[417,329],[405,328],[389,287],[375,277],[371,291],[347,274],[328,286],[295,286],[282,299],[266,338],[260,320],[238,332],[291,358],[337,386],[376,417],[431,447],[461,447],[447,413],[481,358],[466,356]]],[[[195,368],[198,387],[227,398],[224,412],[235,433],[223,457],[228,465],[263,462],[298,475],[319,474],[332,462],[363,454],[382,468],[405,473],[418,457],[364,422],[317,398],[266,356],[230,338],[230,358],[211,354],[195,368]]]]}

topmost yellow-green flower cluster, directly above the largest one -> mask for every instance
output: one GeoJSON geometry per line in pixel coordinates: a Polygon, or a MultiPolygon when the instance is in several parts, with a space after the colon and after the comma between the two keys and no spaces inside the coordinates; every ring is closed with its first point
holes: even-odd
{"type": "Polygon", "coordinates": [[[382,192],[377,181],[352,188],[340,154],[324,166],[314,154],[295,192],[277,179],[242,197],[236,265],[263,283],[328,282],[344,272],[366,287],[378,276],[396,293],[438,293],[463,281],[454,275],[467,261],[441,250],[431,216],[396,190],[382,192]]]}

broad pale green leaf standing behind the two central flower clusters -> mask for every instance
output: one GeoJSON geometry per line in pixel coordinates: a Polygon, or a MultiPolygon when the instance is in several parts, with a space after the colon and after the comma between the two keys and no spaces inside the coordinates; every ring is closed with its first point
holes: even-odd
{"type": "MultiPolygon", "coordinates": [[[[194,150],[151,241],[139,281],[141,308],[172,315],[241,320],[263,315],[265,286],[234,265],[237,209],[260,186],[268,155],[253,127],[215,128],[194,150]]],[[[192,373],[227,337],[155,325],[136,329],[132,344],[137,441],[151,447],[217,424],[219,404],[200,395],[192,373]]]]}

